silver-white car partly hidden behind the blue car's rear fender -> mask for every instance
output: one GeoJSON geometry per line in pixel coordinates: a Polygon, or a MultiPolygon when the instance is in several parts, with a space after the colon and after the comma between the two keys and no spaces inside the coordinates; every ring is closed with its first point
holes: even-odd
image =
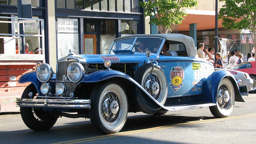
{"type": "Polygon", "coordinates": [[[220,69],[220,68],[215,68],[215,70],[227,70],[228,72],[233,74],[233,76],[236,78],[236,81],[241,80],[240,82],[238,82],[239,85],[240,86],[246,85],[248,91],[256,89],[253,79],[250,78],[249,74],[247,74],[246,72],[240,72],[240,71],[231,70],[231,69],[220,69]]]}

